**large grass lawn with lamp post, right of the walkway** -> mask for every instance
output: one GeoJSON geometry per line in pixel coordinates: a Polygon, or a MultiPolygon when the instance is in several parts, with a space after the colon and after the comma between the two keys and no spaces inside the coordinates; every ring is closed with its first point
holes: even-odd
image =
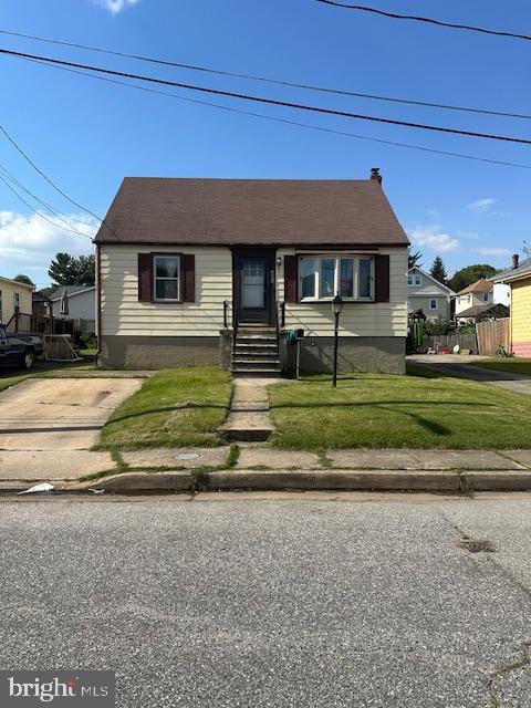
{"type": "Polygon", "coordinates": [[[407,376],[342,376],[336,389],[330,376],[271,386],[271,444],[292,450],[531,448],[531,396],[416,368],[407,376]]]}

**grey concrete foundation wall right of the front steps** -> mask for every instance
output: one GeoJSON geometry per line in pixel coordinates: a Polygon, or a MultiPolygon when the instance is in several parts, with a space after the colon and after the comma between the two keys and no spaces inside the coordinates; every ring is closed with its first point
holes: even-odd
{"type": "MultiPolygon", "coordinates": [[[[295,367],[296,347],[281,346],[283,367],[295,367]]],[[[399,336],[340,337],[337,371],[405,374],[406,339],[399,336]]],[[[301,341],[301,372],[329,373],[333,369],[334,339],[305,337],[301,341]]]]}

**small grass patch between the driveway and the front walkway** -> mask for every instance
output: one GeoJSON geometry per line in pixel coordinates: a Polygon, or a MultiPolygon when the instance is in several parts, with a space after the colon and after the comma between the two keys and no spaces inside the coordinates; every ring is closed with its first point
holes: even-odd
{"type": "Polygon", "coordinates": [[[163,369],[116,408],[97,447],[216,447],[231,395],[230,374],[217,367],[163,369]]]}

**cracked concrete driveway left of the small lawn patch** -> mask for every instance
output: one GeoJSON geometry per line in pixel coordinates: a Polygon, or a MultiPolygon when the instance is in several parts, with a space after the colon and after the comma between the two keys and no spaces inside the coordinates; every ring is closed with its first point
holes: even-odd
{"type": "Polygon", "coordinates": [[[0,393],[0,479],[75,479],[113,468],[90,452],[143,378],[33,378],[0,393]]]}

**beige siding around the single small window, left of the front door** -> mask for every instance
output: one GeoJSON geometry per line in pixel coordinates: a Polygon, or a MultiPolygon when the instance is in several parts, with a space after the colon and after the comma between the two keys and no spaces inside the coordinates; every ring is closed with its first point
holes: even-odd
{"type": "Polygon", "coordinates": [[[228,248],[104,246],[101,251],[102,334],[217,336],[223,300],[232,301],[232,257],[228,248]],[[194,253],[196,302],[138,302],[138,253],[194,253]]]}

